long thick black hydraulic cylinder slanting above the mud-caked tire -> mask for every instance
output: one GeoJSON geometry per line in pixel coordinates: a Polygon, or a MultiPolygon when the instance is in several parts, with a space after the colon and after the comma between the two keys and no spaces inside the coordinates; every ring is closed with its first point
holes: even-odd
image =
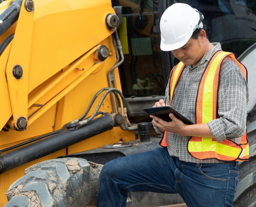
{"type": "Polygon", "coordinates": [[[102,132],[111,130],[114,126],[115,122],[113,118],[110,115],[103,115],[76,129],[65,130],[17,150],[5,153],[0,156],[0,174],[102,132]]]}

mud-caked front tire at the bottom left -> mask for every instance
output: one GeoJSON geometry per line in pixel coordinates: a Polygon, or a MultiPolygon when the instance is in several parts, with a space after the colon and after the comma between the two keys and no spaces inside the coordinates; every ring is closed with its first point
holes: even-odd
{"type": "Polygon", "coordinates": [[[47,160],[25,170],[6,195],[4,207],[97,205],[102,165],[80,158],[47,160]]]}

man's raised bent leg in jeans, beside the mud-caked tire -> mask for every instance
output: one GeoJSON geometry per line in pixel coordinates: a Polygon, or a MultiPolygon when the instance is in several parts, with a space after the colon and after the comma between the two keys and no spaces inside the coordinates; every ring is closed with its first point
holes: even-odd
{"type": "Polygon", "coordinates": [[[166,148],[121,157],[101,170],[98,207],[125,207],[128,192],[176,193],[174,158],[166,148]]]}

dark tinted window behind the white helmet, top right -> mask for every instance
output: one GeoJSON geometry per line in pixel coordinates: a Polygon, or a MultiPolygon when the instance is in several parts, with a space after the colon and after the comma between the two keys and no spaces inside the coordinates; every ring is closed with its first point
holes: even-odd
{"type": "Polygon", "coordinates": [[[250,0],[181,0],[204,15],[210,42],[220,42],[222,50],[239,57],[256,42],[256,1],[250,0]]]}

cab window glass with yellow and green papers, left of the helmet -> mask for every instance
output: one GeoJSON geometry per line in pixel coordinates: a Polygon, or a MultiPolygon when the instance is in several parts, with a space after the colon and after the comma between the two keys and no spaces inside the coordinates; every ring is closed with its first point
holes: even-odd
{"type": "Polygon", "coordinates": [[[125,60],[119,66],[125,96],[165,94],[158,14],[130,15],[119,28],[125,60]]]}

